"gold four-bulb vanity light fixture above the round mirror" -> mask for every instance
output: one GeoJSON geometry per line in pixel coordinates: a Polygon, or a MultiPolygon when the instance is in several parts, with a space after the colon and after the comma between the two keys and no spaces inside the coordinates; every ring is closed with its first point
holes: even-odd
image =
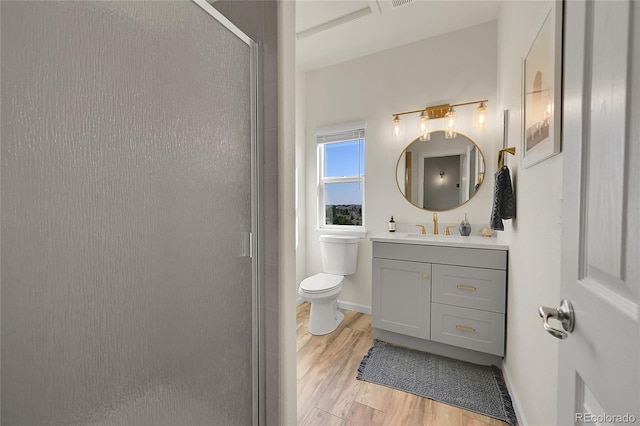
{"type": "Polygon", "coordinates": [[[413,111],[405,111],[405,112],[397,112],[392,114],[393,116],[393,136],[395,138],[400,138],[401,129],[400,129],[400,116],[406,114],[416,114],[420,113],[418,118],[418,137],[421,141],[428,141],[431,139],[431,132],[429,130],[430,121],[438,118],[445,119],[444,131],[446,139],[453,139],[457,134],[457,117],[456,111],[454,107],[460,107],[465,105],[478,105],[475,111],[475,126],[478,130],[484,130],[487,123],[487,99],[481,99],[478,101],[471,102],[463,102],[459,104],[443,104],[443,105],[435,105],[428,106],[423,109],[417,109],[413,111]]]}

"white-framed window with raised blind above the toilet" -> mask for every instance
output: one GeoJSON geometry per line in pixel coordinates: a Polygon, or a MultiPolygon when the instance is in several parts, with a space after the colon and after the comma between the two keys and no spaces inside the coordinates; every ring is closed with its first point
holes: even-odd
{"type": "Polygon", "coordinates": [[[364,123],[318,129],[318,224],[364,227],[364,123]]]}

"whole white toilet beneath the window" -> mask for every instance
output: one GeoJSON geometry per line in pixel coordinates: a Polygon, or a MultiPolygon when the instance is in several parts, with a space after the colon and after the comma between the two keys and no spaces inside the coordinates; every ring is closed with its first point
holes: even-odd
{"type": "Polygon", "coordinates": [[[298,288],[298,295],[311,303],[309,333],[331,333],[344,319],[338,310],[338,296],[344,276],[356,272],[359,242],[359,237],[320,236],[322,272],[305,278],[298,288]]]}

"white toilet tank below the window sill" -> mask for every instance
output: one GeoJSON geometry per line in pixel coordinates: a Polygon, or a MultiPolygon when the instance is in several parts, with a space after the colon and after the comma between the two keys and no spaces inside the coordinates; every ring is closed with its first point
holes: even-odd
{"type": "Polygon", "coordinates": [[[321,235],[320,256],[322,272],[334,275],[352,275],[358,263],[359,237],[321,235]]]}

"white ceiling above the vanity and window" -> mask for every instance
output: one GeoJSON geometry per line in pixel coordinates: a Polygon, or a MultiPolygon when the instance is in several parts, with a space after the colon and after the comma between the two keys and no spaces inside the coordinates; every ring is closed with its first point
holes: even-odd
{"type": "Polygon", "coordinates": [[[498,18],[500,0],[296,0],[305,71],[498,18]]]}

